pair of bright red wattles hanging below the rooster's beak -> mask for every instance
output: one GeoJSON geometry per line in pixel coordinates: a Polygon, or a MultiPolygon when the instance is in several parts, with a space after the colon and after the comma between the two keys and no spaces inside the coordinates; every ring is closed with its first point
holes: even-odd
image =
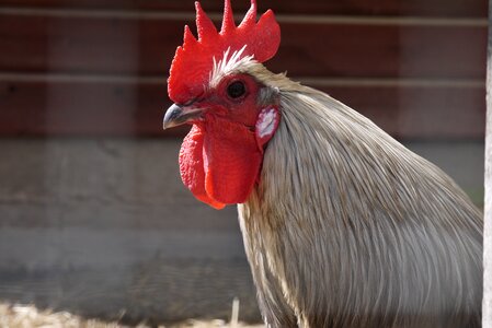
{"type": "Polygon", "coordinates": [[[226,119],[208,117],[194,125],[180,151],[184,185],[215,209],[244,202],[262,162],[254,132],[226,119]]]}

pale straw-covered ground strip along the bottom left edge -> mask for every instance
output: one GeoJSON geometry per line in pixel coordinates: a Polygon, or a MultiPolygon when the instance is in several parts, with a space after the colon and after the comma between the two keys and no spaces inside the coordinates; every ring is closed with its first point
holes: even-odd
{"type": "MultiPolygon", "coordinates": [[[[84,319],[68,312],[38,311],[32,305],[0,304],[0,327],[4,328],[127,328],[118,323],[104,323],[95,319],[84,319]]],[[[263,328],[263,325],[247,325],[242,323],[226,323],[224,320],[194,320],[158,328],[263,328]]],[[[153,328],[145,324],[136,328],[153,328]]]]}

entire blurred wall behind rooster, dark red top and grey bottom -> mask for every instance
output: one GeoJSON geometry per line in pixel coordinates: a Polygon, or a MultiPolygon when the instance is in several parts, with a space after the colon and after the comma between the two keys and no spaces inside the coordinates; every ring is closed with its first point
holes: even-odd
{"type": "MultiPolygon", "coordinates": [[[[234,207],[179,177],[167,74],[193,0],[0,0],[0,303],[138,323],[260,319],[234,207]]],[[[232,0],[239,22],[248,0],[232,0]]],[[[222,1],[204,0],[219,26],[222,1]]],[[[487,0],[260,0],[266,66],[431,160],[482,206],[487,0]]]]}

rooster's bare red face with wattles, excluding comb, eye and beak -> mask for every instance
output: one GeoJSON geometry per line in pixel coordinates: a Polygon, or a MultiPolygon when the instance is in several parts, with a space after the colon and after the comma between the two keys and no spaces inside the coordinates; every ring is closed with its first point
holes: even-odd
{"type": "MultiPolygon", "coordinates": [[[[180,151],[183,183],[193,195],[216,209],[244,202],[254,187],[271,133],[260,138],[256,124],[263,109],[256,104],[259,84],[249,75],[231,75],[199,97],[194,107],[203,110],[180,151]],[[245,93],[231,98],[227,86],[242,81],[245,93]]],[[[268,107],[268,110],[276,107],[268,107]]]]}

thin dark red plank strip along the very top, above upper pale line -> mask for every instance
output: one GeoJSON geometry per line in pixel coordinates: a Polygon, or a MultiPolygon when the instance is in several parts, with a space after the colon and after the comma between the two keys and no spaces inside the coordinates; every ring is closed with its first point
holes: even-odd
{"type": "MultiPolygon", "coordinates": [[[[45,7],[75,9],[123,9],[123,10],[162,10],[188,11],[193,9],[194,0],[1,0],[0,5],[14,7],[45,7]]],[[[220,12],[221,1],[203,0],[203,7],[208,11],[220,12]]],[[[342,14],[342,15],[424,15],[424,16],[456,16],[456,17],[487,17],[487,0],[310,0],[310,1],[259,1],[260,10],[274,9],[278,14],[342,14]]],[[[232,1],[236,12],[243,12],[249,7],[247,0],[232,1]]]]}

